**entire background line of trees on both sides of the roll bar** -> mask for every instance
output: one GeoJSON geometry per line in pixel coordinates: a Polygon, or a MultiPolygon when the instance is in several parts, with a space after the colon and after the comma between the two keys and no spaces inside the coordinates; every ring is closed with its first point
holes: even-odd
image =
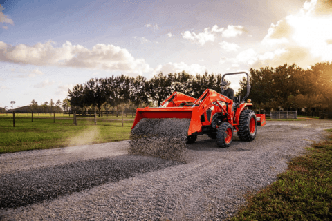
{"type": "MultiPolygon", "coordinates": [[[[221,74],[208,73],[190,75],[185,73],[158,73],[151,79],[126,75],[90,79],[76,84],[68,90],[67,108],[87,111],[97,108],[131,106],[160,106],[174,91],[198,98],[204,90],[213,89],[221,93],[221,74]]],[[[228,84],[230,82],[228,81],[228,84]]],[[[306,70],[296,64],[284,64],[272,68],[250,68],[250,96],[254,108],[284,111],[307,108],[310,112],[329,110],[332,112],[332,63],[317,63],[306,70]]],[[[240,81],[237,96],[246,95],[246,78],[240,81]]]]}

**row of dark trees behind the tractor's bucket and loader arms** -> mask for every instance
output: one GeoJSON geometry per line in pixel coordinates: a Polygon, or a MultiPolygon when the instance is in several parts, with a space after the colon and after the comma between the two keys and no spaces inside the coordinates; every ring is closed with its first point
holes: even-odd
{"type": "Polygon", "coordinates": [[[190,75],[185,73],[158,73],[151,79],[119,75],[90,79],[84,84],[76,84],[68,90],[68,100],[74,110],[87,111],[91,107],[105,111],[109,108],[160,104],[174,91],[199,97],[207,88],[221,92],[221,74],[190,75]]]}

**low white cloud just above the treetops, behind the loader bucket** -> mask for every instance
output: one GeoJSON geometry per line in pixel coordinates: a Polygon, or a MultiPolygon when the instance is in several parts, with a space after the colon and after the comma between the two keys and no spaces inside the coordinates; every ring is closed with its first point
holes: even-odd
{"type": "Polygon", "coordinates": [[[153,72],[153,75],[159,73],[160,71],[163,72],[164,74],[169,74],[169,73],[179,73],[182,71],[185,71],[186,73],[190,73],[192,75],[196,74],[196,73],[205,73],[206,67],[205,66],[201,66],[199,64],[185,64],[184,62],[180,62],[180,63],[172,63],[169,62],[167,64],[164,65],[158,65],[153,72]]]}

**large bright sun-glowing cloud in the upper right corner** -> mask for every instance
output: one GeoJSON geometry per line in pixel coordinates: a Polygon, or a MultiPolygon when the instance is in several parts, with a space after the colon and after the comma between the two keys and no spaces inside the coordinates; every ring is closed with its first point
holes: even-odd
{"type": "Polygon", "coordinates": [[[261,41],[268,50],[284,48],[279,62],[286,60],[299,66],[332,60],[332,1],[306,1],[301,10],[271,24],[261,41]],[[273,47],[273,48],[271,48],[273,47]]]}

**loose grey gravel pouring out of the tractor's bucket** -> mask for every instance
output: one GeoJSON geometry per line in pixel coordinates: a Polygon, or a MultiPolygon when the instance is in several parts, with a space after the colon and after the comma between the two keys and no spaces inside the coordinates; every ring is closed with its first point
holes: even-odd
{"type": "Polygon", "coordinates": [[[190,119],[141,119],[131,130],[129,153],[185,162],[190,119]]]}

